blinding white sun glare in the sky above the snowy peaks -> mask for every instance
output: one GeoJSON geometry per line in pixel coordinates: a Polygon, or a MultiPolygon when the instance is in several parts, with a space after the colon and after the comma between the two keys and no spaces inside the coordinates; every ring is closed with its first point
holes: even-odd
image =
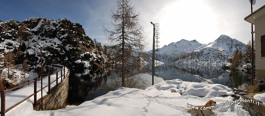
{"type": "MultiPolygon", "coordinates": [[[[180,39],[193,40],[200,38],[200,43],[212,41],[204,39],[214,36],[217,16],[207,2],[181,0],[166,6],[161,12],[160,38],[177,42],[180,39]],[[187,5],[188,4],[188,5],[187,5]],[[188,6],[188,7],[187,7],[188,6]]],[[[213,40],[216,38],[213,38],[213,40]]],[[[161,40],[161,45],[166,41],[161,40]]]]}

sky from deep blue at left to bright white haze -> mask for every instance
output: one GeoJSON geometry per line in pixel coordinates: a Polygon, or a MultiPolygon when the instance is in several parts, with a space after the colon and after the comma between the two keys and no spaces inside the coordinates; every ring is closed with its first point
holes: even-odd
{"type": "MultiPolygon", "coordinates": [[[[247,43],[251,39],[251,24],[244,21],[250,11],[249,0],[131,0],[140,12],[140,24],[152,49],[152,25],[160,24],[160,46],[181,39],[207,44],[221,34],[247,43]]],[[[265,4],[257,0],[253,11],[265,4]]],[[[83,25],[86,34],[108,44],[103,26],[112,28],[111,10],[116,10],[115,0],[2,0],[0,20],[23,21],[30,17],[47,19],[66,18],[83,25]]]]}

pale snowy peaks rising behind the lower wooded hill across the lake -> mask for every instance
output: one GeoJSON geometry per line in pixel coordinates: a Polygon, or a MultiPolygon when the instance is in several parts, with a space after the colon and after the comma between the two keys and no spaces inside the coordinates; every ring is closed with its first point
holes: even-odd
{"type": "MultiPolygon", "coordinates": [[[[244,44],[243,42],[240,42],[237,39],[230,38],[229,36],[224,34],[220,35],[216,40],[214,40],[214,42],[210,42],[208,44],[202,44],[197,40],[188,41],[185,39],[181,39],[180,41],[171,42],[168,45],[164,45],[163,47],[158,48],[159,49],[158,60],[161,60],[162,62],[165,63],[171,63],[177,57],[190,54],[191,52],[202,53],[202,51],[203,52],[210,51],[210,52],[219,52],[221,54],[224,54],[224,56],[227,58],[222,57],[222,59],[219,60],[222,62],[227,62],[225,60],[231,58],[231,56],[233,56],[233,53],[237,48],[243,51],[245,47],[246,44],[244,44]]],[[[151,55],[152,50],[146,51],[146,53],[151,55]]],[[[210,55],[210,53],[207,54],[210,55]]],[[[217,53],[211,53],[210,56],[213,56],[213,54],[217,55],[217,53]]],[[[203,59],[204,61],[206,60],[205,58],[203,59]]],[[[212,57],[209,57],[208,60],[210,61],[214,59],[212,59],[212,57]]]]}

